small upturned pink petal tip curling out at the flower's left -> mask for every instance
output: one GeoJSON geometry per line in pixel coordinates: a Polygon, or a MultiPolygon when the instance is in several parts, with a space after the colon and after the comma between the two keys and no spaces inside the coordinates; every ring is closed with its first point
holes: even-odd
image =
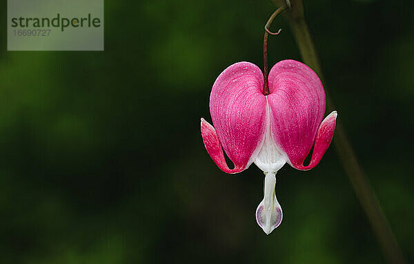
{"type": "Polygon", "coordinates": [[[201,119],[201,136],[203,137],[204,145],[211,159],[219,166],[220,170],[226,173],[237,173],[242,172],[245,167],[235,165],[233,170],[230,170],[224,159],[223,150],[221,149],[219,138],[217,137],[216,131],[213,125],[210,125],[206,120],[201,119]]]}

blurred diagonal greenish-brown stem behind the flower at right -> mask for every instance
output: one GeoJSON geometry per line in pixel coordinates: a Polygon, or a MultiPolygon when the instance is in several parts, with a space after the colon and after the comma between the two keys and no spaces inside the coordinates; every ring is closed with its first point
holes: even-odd
{"type": "MultiPolygon", "coordinates": [[[[275,6],[284,6],[286,0],[271,0],[275,6]]],[[[297,47],[304,62],[319,75],[323,81],[322,70],[315,50],[315,45],[304,18],[302,0],[291,0],[291,8],[284,12],[284,17],[295,37],[297,47]]],[[[290,4],[290,3],[288,3],[290,4]]],[[[326,92],[326,108],[328,112],[335,110],[333,102],[326,92]]],[[[388,263],[406,263],[402,251],[395,240],[386,217],[375,198],[371,185],[359,166],[351,143],[348,141],[342,123],[337,120],[337,127],[333,139],[339,159],[355,190],[355,194],[364,209],[373,232],[388,263]]]]}

